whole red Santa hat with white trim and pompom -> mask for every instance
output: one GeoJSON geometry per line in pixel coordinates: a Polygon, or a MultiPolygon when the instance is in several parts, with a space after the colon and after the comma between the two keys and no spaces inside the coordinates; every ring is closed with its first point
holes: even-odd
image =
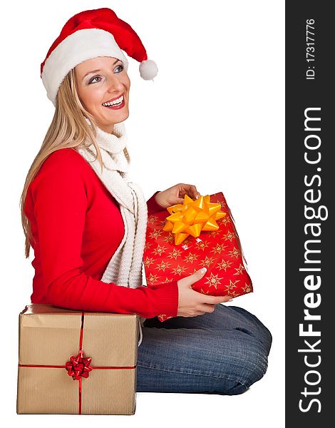
{"type": "Polygon", "coordinates": [[[53,105],[63,78],[78,63],[97,56],[112,56],[123,61],[127,71],[128,61],[121,49],[140,62],[142,78],[150,80],[157,76],[156,63],[148,59],[140,38],[114,11],[93,9],[72,16],[41,63],[41,78],[53,105]]]}

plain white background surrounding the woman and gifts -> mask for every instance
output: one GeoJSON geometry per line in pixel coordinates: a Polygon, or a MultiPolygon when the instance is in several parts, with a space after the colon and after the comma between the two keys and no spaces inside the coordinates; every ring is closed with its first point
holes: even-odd
{"type": "Polygon", "coordinates": [[[11,1],[1,6],[1,416],[58,427],[284,427],[284,1],[11,1]],[[222,191],[254,293],[238,297],[274,341],[265,377],[235,396],[138,393],[134,416],[16,415],[18,315],[30,302],[19,198],[53,116],[40,64],[65,22],[110,7],[156,61],[129,58],[133,180],[149,198],[179,182],[222,191]]]}

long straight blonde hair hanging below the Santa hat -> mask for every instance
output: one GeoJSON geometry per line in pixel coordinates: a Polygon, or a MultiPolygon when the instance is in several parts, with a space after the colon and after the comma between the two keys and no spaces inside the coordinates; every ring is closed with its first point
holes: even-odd
{"type": "Polygon", "coordinates": [[[79,146],[87,148],[91,146],[91,144],[95,146],[97,153],[96,158],[101,168],[103,168],[101,153],[96,143],[96,121],[94,121],[93,116],[86,111],[81,103],[78,96],[76,76],[73,68],[68,72],[58,89],[55,114],[53,115],[51,125],[48,128],[42,146],[29,168],[26,182],[24,183],[24,190],[20,198],[21,223],[26,237],[26,258],[29,257],[31,243],[33,242],[31,225],[24,213],[26,194],[31,181],[38,173],[42,163],[54,151],[61,148],[78,148],[79,146]],[[88,118],[91,126],[87,123],[86,118],[88,118]]]}

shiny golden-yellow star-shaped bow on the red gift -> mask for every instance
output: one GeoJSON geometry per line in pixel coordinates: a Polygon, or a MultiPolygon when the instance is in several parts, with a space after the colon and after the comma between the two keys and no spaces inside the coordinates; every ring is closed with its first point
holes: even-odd
{"type": "Polygon", "coordinates": [[[175,245],[180,245],[189,235],[197,238],[201,232],[217,230],[216,220],[226,215],[220,209],[220,203],[210,202],[210,195],[196,200],[185,195],[184,203],[167,208],[170,215],[163,230],[175,233],[175,245]]]}

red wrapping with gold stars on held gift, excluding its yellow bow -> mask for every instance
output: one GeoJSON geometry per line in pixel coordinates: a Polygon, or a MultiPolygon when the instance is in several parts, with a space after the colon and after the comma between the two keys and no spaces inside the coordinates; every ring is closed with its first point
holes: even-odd
{"type": "MultiPolygon", "coordinates": [[[[210,195],[210,203],[220,203],[225,216],[216,220],[219,228],[189,235],[175,245],[175,234],[163,230],[167,210],[148,216],[143,262],[148,285],[157,285],[191,275],[201,267],[207,272],[192,289],[207,295],[237,297],[253,291],[246,261],[230,208],[223,193],[210,195]]],[[[160,315],[160,321],[168,320],[160,315]]]]}

